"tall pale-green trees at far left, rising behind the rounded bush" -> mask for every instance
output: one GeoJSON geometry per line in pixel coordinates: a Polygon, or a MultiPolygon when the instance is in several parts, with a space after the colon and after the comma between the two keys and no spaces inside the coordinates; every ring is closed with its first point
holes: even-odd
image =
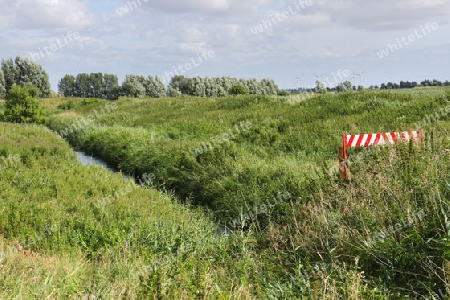
{"type": "Polygon", "coordinates": [[[0,98],[5,98],[15,85],[35,86],[39,97],[50,96],[50,82],[47,72],[31,59],[17,56],[2,59],[0,69],[0,98]]]}

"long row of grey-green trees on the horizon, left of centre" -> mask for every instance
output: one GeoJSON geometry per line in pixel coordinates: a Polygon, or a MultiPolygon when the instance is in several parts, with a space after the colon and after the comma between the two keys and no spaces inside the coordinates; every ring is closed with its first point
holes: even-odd
{"type": "Polygon", "coordinates": [[[166,87],[158,76],[129,74],[122,84],[114,74],[80,73],[65,75],[58,84],[64,97],[103,98],[115,100],[120,96],[160,98],[190,95],[196,97],[226,97],[236,94],[277,95],[280,90],[272,79],[237,79],[228,76],[216,78],[184,77],[176,75],[166,87]]]}

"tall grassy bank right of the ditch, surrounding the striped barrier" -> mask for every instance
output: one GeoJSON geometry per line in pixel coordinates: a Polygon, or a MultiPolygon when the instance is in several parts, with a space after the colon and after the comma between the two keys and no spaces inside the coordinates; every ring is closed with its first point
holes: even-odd
{"type": "MultiPolygon", "coordinates": [[[[266,97],[122,99],[67,138],[126,173],[154,173],[156,187],[211,208],[217,222],[230,225],[240,216],[232,224],[249,229],[247,241],[226,252],[251,258],[255,276],[243,281],[252,288],[242,289],[252,297],[418,297],[449,292],[449,115],[425,122],[420,147],[363,155],[349,183],[327,170],[343,133],[417,129],[415,122],[448,101],[440,89],[326,95],[294,106],[266,97]],[[251,128],[235,129],[241,122],[251,128]],[[194,155],[202,142],[211,149],[194,155]],[[290,198],[277,197],[286,193],[290,198]]],[[[61,131],[105,102],[63,99],[46,106],[49,126],[61,131]],[[70,111],[56,109],[61,103],[70,111]]],[[[233,278],[228,272],[221,274],[233,278]]]]}

